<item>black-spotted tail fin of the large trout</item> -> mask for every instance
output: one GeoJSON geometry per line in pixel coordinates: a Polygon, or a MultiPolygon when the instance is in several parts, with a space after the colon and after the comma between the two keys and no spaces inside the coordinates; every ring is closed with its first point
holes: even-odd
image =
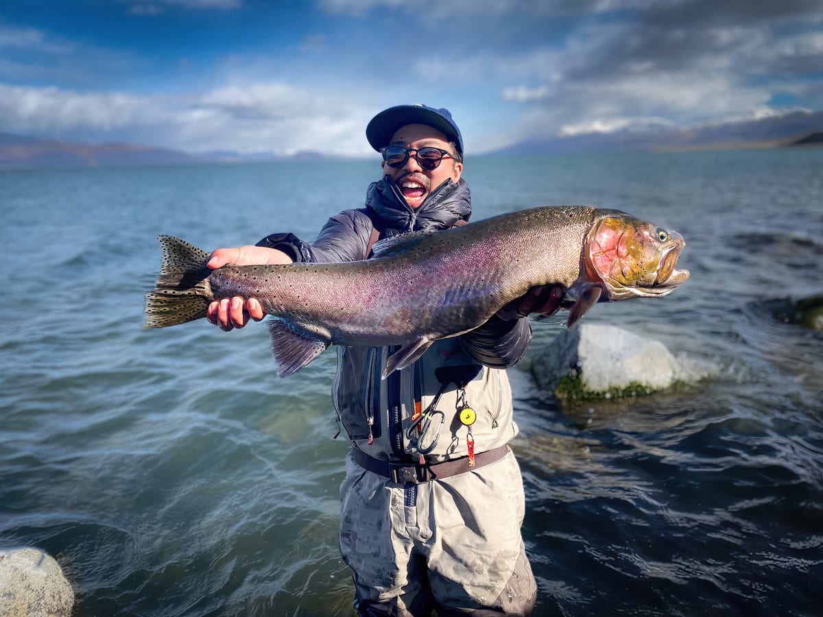
{"type": "Polygon", "coordinates": [[[210,255],[170,235],[157,236],[163,263],[155,288],[146,294],[145,327],[176,326],[206,317],[212,301],[206,267],[210,255]]]}

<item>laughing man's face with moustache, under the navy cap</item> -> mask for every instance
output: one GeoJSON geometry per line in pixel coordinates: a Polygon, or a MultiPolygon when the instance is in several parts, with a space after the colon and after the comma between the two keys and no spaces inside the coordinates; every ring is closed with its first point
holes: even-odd
{"type": "MultiPolygon", "coordinates": [[[[450,154],[456,154],[442,132],[436,128],[427,127],[425,124],[407,124],[399,128],[389,145],[414,149],[431,146],[449,151],[450,154]]],[[[429,193],[439,187],[445,179],[451,178],[453,183],[457,183],[463,172],[463,163],[454,160],[451,156],[444,156],[437,169],[431,171],[423,169],[417,163],[413,152],[406,164],[399,169],[389,167],[385,161],[382,165],[383,173],[398,184],[403,197],[406,197],[407,204],[412,208],[420,206],[429,193]]]]}

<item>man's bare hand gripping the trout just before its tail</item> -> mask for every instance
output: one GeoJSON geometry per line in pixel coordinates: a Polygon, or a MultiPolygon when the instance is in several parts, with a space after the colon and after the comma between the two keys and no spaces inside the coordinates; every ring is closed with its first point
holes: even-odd
{"type": "MultiPolygon", "coordinates": [[[[291,263],[291,257],[277,248],[253,245],[218,248],[212,253],[207,266],[215,270],[227,263],[235,263],[238,266],[266,266],[291,263]]],[[[229,332],[235,327],[244,327],[249,318],[259,322],[265,315],[263,305],[257,299],[244,299],[237,295],[232,299],[224,298],[209,304],[206,318],[210,323],[220,326],[221,330],[229,332]]]]}

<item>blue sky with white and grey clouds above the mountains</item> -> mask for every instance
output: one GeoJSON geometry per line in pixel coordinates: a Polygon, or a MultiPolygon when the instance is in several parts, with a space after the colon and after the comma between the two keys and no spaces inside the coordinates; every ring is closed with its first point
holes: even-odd
{"type": "Polygon", "coordinates": [[[365,155],[418,102],[470,152],[820,111],[823,2],[0,2],[0,132],[365,155]]]}

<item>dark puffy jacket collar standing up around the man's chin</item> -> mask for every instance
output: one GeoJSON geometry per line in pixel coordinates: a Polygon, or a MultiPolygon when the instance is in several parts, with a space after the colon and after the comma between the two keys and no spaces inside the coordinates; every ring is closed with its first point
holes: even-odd
{"type": "Polygon", "coordinates": [[[468,220],[472,216],[472,195],[463,179],[457,184],[446,179],[416,210],[412,210],[397,183],[384,176],[369,185],[365,205],[386,230],[446,230],[458,220],[468,220]]]}

